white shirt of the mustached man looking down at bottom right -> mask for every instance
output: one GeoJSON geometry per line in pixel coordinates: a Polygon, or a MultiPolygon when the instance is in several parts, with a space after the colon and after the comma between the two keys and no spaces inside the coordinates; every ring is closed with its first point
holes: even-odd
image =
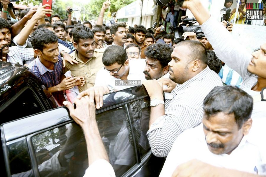
{"type": "MultiPolygon", "coordinates": [[[[265,167],[257,146],[246,140],[244,136],[238,147],[228,154],[216,155],[210,152],[205,141],[202,124],[183,132],[173,144],[173,147],[166,158],[166,162],[160,173],[160,177],[172,176],[173,171],[181,163],[192,159],[229,169],[255,173],[255,167],[259,170],[265,167]]],[[[265,174],[266,171],[259,171],[265,174]]]]}

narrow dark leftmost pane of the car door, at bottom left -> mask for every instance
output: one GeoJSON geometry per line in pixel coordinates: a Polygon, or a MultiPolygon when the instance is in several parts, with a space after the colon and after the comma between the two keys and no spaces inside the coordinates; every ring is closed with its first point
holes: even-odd
{"type": "Polygon", "coordinates": [[[12,176],[33,176],[25,138],[8,142],[7,151],[12,176]]]}

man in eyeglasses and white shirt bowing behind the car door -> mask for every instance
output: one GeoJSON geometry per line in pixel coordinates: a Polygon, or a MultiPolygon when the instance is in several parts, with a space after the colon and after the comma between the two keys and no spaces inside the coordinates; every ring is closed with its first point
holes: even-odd
{"type": "Polygon", "coordinates": [[[128,85],[126,81],[145,79],[145,60],[129,61],[126,50],[121,46],[111,45],[106,48],[103,53],[103,65],[104,68],[96,75],[94,86],[107,86],[113,91],[123,90],[134,86],[128,85]]]}

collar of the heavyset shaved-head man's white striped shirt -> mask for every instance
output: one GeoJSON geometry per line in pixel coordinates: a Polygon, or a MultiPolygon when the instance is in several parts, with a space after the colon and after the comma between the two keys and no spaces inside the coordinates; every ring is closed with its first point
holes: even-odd
{"type": "Polygon", "coordinates": [[[177,84],[176,88],[173,89],[172,94],[177,94],[177,92],[181,89],[184,89],[185,87],[190,87],[193,83],[197,81],[201,81],[203,78],[205,78],[206,73],[210,72],[209,66],[207,66],[203,71],[198,73],[193,78],[189,79],[188,81],[184,82],[183,84],[177,84]]]}

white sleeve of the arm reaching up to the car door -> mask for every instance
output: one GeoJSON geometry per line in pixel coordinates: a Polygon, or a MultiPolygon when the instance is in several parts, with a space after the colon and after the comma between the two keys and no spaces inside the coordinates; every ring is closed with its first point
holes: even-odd
{"type": "Polygon", "coordinates": [[[115,173],[109,162],[99,159],[87,168],[83,177],[115,177],[115,173]]]}

